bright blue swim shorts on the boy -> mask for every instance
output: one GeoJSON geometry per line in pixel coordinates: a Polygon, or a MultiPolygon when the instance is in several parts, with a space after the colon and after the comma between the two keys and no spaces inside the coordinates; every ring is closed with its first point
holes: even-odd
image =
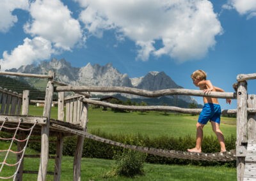
{"type": "Polygon", "coordinates": [[[213,121],[220,124],[221,108],[220,105],[205,103],[202,112],[198,117],[198,122],[201,124],[207,124],[207,122],[213,121]]]}

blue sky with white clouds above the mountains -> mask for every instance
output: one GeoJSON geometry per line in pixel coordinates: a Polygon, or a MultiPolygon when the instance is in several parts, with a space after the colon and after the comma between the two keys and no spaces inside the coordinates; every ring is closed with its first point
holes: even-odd
{"type": "MultiPolygon", "coordinates": [[[[255,0],[1,0],[1,71],[66,59],[74,67],[111,62],[129,77],[164,71],[185,89],[204,69],[227,92],[255,73],[255,0]]],[[[253,94],[256,82],[248,82],[253,94]]],[[[202,98],[196,98],[202,103],[202,98]]],[[[231,106],[236,108],[236,101],[231,106]]]]}

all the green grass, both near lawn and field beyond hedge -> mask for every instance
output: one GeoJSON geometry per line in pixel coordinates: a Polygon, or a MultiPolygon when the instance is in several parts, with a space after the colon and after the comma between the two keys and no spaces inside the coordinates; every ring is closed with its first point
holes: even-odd
{"type": "MultiPolygon", "coordinates": [[[[30,115],[42,115],[43,108],[29,107],[30,115]]],[[[51,117],[57,119],[57,108],[52,108],[51,117]]],[[[111,134],[142,134],[150,138],[161,136],[177,137],[195,136],[195,124],[198,115],[163,112],[112,112],[90,108],[88,113],[88,132],[100,130],[111,134]]],[[[236,135],[236,119],[221,117],[221,130],[228,137],[236,135]]],[[[214,135],[211,124],[204,128],[204,135],[214,135]]],[[[7,143],[1,142],[1,150],[8,147],[7,143]]],[[[26,154],[35,154],[35,150],[28,148],[26,154]]],[[[1,159],[3,153],[0,154],[1,159]]],[[[72,180],[73,157],[65,156],[62,159],[61,180],[72,180]]],[[[10,157],[10,162],[15,161],[15,156],[10,157]]],[[[236,168],[225,166],[193,166],[193,165],[165,165],[145,163],[145,175],[136,178],[104,178],[104,173],[112,170],[115,161],[95,158],[83,158],[81,165],[82,180],[236,180],[236,168]]],[[[26,170],[35,170],[39,165],[39,159],[24,161],[26,170]]],[[[8,168],[4,166],[4,168],[8,168]]],[[[49,161],[49,171],[54,170],[54,160],[49,161]]],[[[1,175],[10,175],[12,170],[4,170],[1,175]]],[[[24,180],[36,180],[37,175],[24,174],[24,180]]],[[[47,180],[52,180],[49,175],[47,180]]]]}

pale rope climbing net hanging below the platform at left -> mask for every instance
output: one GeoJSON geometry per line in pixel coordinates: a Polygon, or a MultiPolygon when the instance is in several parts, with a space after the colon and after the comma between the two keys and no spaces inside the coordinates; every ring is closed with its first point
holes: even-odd
{"type": "Polygon", "coordinates": [[[13,180],[15,180],[15,177],[18,173],[18,170],[20,168],[20,164],[22,163],[22,159],[24,157],[24,153],[25,153],[25,150],[26,150],[26,147],[28,145],[28,141],[29,141],[29,138],[31,136],[31,133],[34,129],[34,127],[36,126],[36,123],[37,121],[35,121],[35,123],[28,129],[24,129],[22,127],[20,127],[20,124],[22,123],[22,119],[19,119],[19,123],[17,124],[17,127],[8,127],[8,126],[5,126],[6,122],[8,122],[8,119],[5,119],[3,121],[3,124],[1,124],[0,126],[0,132],[2,131],[2,129],[6,129],[6,130],[14,130],[14,134],[13,134],[13,137],[12,138],[2,138],[0,137],[0,140],[3,140],[3,141],[10,141],[10,145],[9,145],[9,148],[6,149],[6,150],[0,150],[0,153],[1,152],[6,152],[6,155],[3,159],[3,162],[0,163],[1,165],[1,168],[0,168],[0,174],[4,168],[4,166],[16,166],[16,170],[15,170],[15,173],[9,177],[1,177],[0,175],[0,179],[10,179],[10,178],[13,178],[13,180]],[[28,136],[24,139],[24,140],[19,140],[16,138],[17,134],[19,133],[19,131],[29,131],[29,134],[28,136]],[[22,148],[22,150],[19,150],[19,151],[14,151],[12,150],[12,146],[13,146],[13,143],[17,141],[17,142],[23,142],[25,143],[24,147],[22,148]],[[19,161],[17,161],[17,163],[13,163],[13,164],[10,164],[10,163],[7,163],[6,160],[8,159],[8,156],[10,153],[13,153],[13,154],[21,154],[21,156],[19,157],[19,161]]]}

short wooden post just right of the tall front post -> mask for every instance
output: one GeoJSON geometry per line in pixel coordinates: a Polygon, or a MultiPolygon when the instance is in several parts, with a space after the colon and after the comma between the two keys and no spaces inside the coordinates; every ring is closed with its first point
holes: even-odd
{"type": "MultiPolygon", "coordinates": [[[[64,121],[64,93],[58,93],[58,120],[64,121]]],[[[57,145],[56,145],[56,159],[55,159],[55,167],[54,167],[54,181],[60,180],[61,173],[61,158],[62,158],[62,150],[63,150],[63,135],[59,133],[57,136],[57,145]]]]}

